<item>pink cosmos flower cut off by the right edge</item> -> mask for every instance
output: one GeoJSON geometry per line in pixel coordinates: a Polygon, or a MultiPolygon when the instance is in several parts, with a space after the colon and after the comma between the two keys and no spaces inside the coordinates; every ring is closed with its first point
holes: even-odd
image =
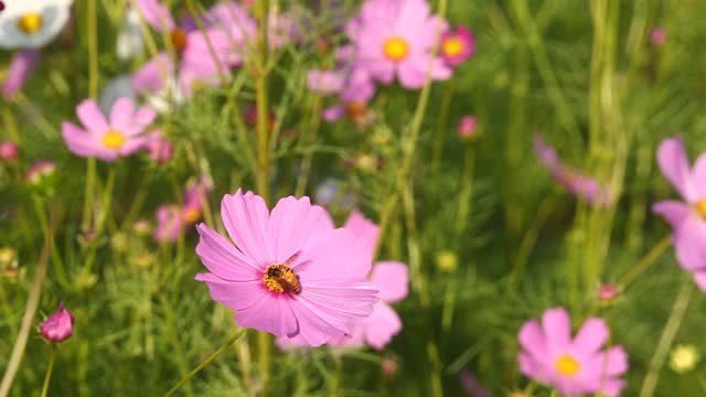
{"type": "Polygon", "coordinates": [[[662,201],[652,211],[670,223],[676,260],[706,291],[706,154],[692,169],[684,143],[673,138],[660,143],[657,162],[684,201],[662,201]]]}

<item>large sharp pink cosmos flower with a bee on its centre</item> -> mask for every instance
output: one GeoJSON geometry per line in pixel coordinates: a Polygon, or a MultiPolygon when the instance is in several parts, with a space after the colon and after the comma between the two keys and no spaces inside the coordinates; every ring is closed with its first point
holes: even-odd
{"type": "Polygon", "coordinates": [[[211,297],[236,310],[242,326],[320,346],[350,335],[373,311],[377,291],[365,279],[370,249],[309,197],[263,197],[238,190],[221,204],[231,243],[200,224],[196,254],[211,297]]]}

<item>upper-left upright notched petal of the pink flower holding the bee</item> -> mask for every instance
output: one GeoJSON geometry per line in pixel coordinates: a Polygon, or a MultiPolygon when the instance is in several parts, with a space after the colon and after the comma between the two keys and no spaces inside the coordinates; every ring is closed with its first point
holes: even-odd
{"type": "Polygon", "coordinates": [[[263,197],[253,192],[226,194],[221,202],[221,216],[228,235],[238,249],[257,266],[265,268],[275,261],[269,227],[269,211],[263,197]]]}

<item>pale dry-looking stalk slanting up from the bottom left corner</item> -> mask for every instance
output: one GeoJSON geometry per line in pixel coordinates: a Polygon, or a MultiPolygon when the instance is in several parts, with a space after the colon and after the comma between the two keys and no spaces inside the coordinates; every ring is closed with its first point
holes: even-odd
{"type": "Polygon", "coordinates": [[[22,361],[22,356],[24,355],[24,347],[26,346],[26,341],[30,336],[30,332],[32,331],[34,314],[36,313],[36,308],[40,304],[40,296],[42,293],[42,285],[44,283],[44,278],[46,276],[49,257],[52,250],[52,246],[54,245],[55,222],[53,214],[50,216],[50,218],[51,226],[44,236],[44,247],[42,248],[42,254],[40,255],[40,261],[36,267],[34,280],[32,280],[32,287],[30,287],[30,296],[24,307],[24,315],[22,316],[20,332],[18,333],[18,337],[14,341],[14,346],[12,346],[12,353],[10,354],[8,367],[4,372],[4,375],[2,376],[2,383],[0,383],[0,397],[7,397],[8,394],[10,394],[10,387],[12,387],[14,376],[20,368],[20,362],[22,361]]]}

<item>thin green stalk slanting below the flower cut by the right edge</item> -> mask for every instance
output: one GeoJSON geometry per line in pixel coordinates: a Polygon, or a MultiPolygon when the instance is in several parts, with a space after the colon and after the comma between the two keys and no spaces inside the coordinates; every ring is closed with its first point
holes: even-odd
{"type": "Polygon", "coordinates": [[[664,325],[664,331],[660,337],[657,348],[654,351],[654,355],[650,362],[650,371],[642,383],[640,397],[651,397],[654,394],[654,388],[656,387],[660,378],[660,372],[662,371],[666,355],[674,343],[676,332],[680,330],[680,325],[682,324],[682,320],[684,319],[684,314],[688,308],[688,302],[692,299],[693,291],[694,286],[691,277],[685,278],[682,289],[674,301],[674,307],[672,308],[670,318],[666,321],[666,325],[664,325]]]}

